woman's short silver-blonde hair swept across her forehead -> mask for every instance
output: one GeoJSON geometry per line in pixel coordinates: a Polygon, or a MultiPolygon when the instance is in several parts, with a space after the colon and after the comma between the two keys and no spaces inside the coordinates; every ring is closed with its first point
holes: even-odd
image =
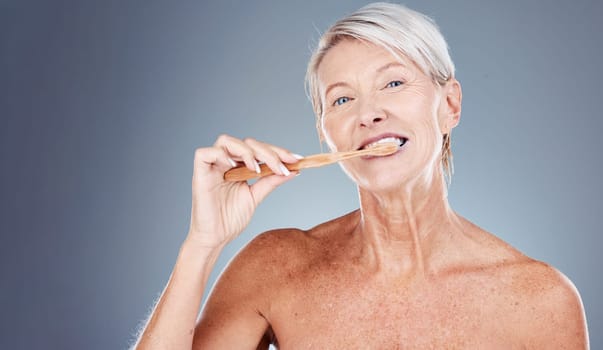
{"type": "MultiPolygon", "coordinates": [[[[322,99],[318,90],[318,68],[326,55],[344,39],[356,39],[379,45],[394,57],[400,54],[413,61],[435,84],[444,85],[454,77],[454,63],[448,44],[430,17],[403,5],[376,2],[340,19],[320,38],[308,63],[306,90],[322,140],[322,99]]],[[[450,134],[442,142],[442,167],[450,180],[453,172],[450,134]]]]}

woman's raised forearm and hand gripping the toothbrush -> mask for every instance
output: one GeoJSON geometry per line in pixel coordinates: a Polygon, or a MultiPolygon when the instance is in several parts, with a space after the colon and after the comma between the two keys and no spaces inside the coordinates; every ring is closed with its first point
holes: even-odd
{"type": "MultiPolygon", "coordinates": [[[[282,163],[296,161],[297,158],[284,149],[226,135],[218,138],[213,147],[195,151],[189,233],[170,280],[136,342],[136,349],[192,348],[201,299],[216,259],[224,246],[247,226],[258,204],[293,177],[283,170],[282,163]],[[253,170],[258,161],[266,163],[277,175],[261,178],[253,185],[224,181],[224,173],[235,166],[235,162],[243,162],[253,170]]],[[[227,302],[232,302],[236,310],[238,300],[232,298],[227,302]]],[[[256,323],[257,320],[250,319],[248,324],[256,323]]],[[[245,322],[239,324],[247,326],[245,322]]],[[[220,332],[212,332],[212,336],[220,336],[220,332]]],[[[250,339],[255,344],[249,345],[257,345],[261,336],[250,339]]]]}

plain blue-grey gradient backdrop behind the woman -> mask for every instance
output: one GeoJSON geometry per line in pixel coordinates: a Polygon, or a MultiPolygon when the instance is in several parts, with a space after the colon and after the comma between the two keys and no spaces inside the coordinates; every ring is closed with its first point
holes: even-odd
{"type": "MultiPolygon", "coordinates": [[[[0,348],[125,348],[167,281],[193,151],[220,133],[320,151],[310,48],[364,1],[0,1],[0,348]]],[[[463,84],[450,201],[569,276],[603,347],[599,1],[406,1],[463,84]]],[[[337,166],[275,191],[269,228],[357,207],[337,166]]]]}

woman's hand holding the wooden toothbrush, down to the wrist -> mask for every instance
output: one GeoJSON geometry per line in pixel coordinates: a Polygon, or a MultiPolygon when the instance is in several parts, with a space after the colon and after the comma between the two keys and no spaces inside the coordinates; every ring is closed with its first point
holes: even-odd
{"type": "Polygon", "coordinates": [[[289,151],[253,139],[222,135],[213,147],[195,151],[191,225],[187,240],[200,247],[221,248],[247,226],[258,204],[277,186],[293,178],[283,163],[298,158],[289,151]],[[243,162],[253,171],[258,161],[276,175],[247,182],[227,182],[224,173],[243,162]]]}

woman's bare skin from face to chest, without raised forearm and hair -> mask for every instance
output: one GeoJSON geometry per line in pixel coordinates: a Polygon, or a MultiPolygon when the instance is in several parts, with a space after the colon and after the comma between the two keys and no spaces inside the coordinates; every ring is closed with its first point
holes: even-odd
{"type": "Polygon", "coordinates": [[[270,231],[244,248],[212,291],[193,348],[588,348],[572,283],[448,204],[440,147],[458,124],[458,82],[436,86],[412,62],[392,62],[352,40],[327,53],[323,133],[334,150],[384,132],[408,143],[342,164],[359,210],[307,231],[270,231]]]}

